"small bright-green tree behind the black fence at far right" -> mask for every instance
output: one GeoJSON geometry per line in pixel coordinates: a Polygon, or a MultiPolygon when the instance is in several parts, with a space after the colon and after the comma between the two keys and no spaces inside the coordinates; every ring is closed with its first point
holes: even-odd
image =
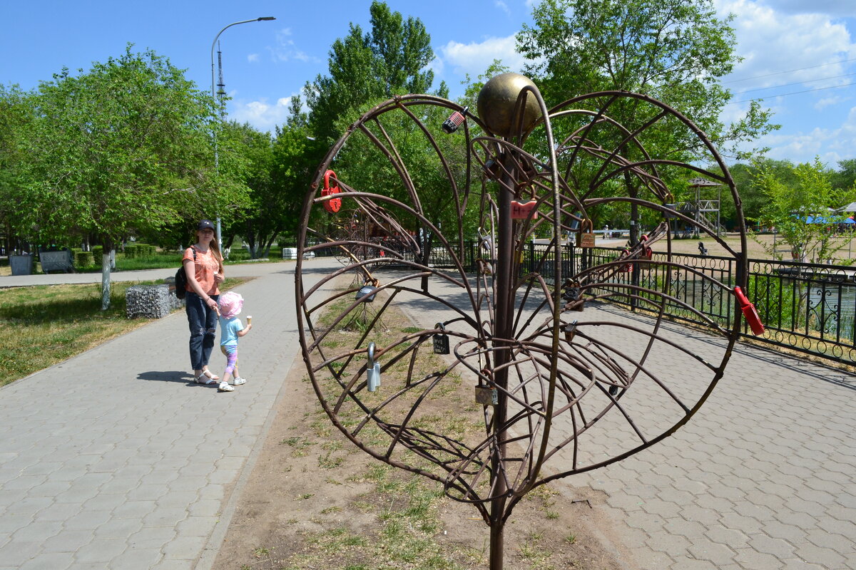
{"type": "MultiPolygon", "coordinates": [[[[825,263],[841,250],[842,245],[835,243],[834,228],[847,216],[830,209],[856,198],[856,188],[833,188],[831,175],[819,158],[790,167],[794,177],[790,184],[770,164],[760,163],[756,168],[754,183],[766,197],[760,221],[776,226],[776,232],[793,248],[794,259],[825,263]]],[[[768,250],[778,256],[771,246],[768,250]]]]}

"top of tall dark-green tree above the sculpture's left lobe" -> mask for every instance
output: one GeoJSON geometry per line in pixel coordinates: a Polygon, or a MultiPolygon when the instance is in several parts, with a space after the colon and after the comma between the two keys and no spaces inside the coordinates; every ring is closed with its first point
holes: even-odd
{"type": "Polygon", "coordinates": [[[369,12],[372,31],[364,33],[352,23],[348,36],[336,39],[330,48],[330,74],[318,75],[304,89],[311,109],[310,131],[319,139],[338,138],[336,120],[349,109],[366,110],[367,104],[379,99],[431,89],[434,72],[425,67],[434,59],[434,51],[422,21],[405,20],[377,0],[369,12]]]}

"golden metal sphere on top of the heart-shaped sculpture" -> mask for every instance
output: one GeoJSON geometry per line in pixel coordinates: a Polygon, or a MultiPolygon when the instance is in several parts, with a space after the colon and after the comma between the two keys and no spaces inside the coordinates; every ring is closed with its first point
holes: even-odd
{"type": "MultiPolygon", "coordinates": [[[[510,137],[517,126],[514,109],[517,97],[526,85],[535,87],[532,79],[520,73],[502,73],[490,79],[479,92],[476,108],[484,124],[499,137],[510,137]]],[[[536,88],[537,89],[537,88],[536,88]]],[[[526,94],[526,107],[523,113],[523,132],[535,124],[541,116],[541,108],[534,93],[526,94]]]]}

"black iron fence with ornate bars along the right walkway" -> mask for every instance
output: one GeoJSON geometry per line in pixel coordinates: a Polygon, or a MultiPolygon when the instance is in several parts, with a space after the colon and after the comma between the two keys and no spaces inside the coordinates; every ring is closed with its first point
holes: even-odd
{"type": "MultiPolygon", "coordinates": [[[[394,244],[384,244],[395,249],[394,244]]],[[[451,251],[441,245],[431,248],[431,267],[455,267],[454,255],[467,270],[477,266],[484,250],[473,241],[451,244],[451,251]],[[462,248],[462,250],[461,250],[462,248]]],[[[336,256],[335,248],[316,250],[317,256],[336,256]]],[[[414,260],[407,248],[401,256],[414,260]]],[[[553,279],[553,253],[546,245],[527,244],[520,259],[521,273],[538,272],[550,283],[553,279]]],[[[621,250],[616,248],[562,249],[562,274],[573,275],[587,267],[616,261],[621,250]]],[[[725,327],[734,322],[734,296],[715,282],[731,287],[736,279],[734,259],[695,254],[672,254],[667,264],[664,254],[655,253],[651,263],[628,263],[609,278],[615,285],[637,285],[654,291],[669,291],[679,303],[667,303],[672,319],[704,324],[696,309],[710,320],[725,327]],[[680,264],[687,267],[676,267],[680,264]],[[707,279],[704,279],[707,278],[707,279]]],[[[821,356],[830,361],[856,364],[856,267],[799,263],[796,261],[750,260],[746,295],[755,304],[766,331],[754,337],[746,322],[743,333],[759,342],[821,356]]],[[[597,291],[595,291],[597,292],[597,291]]],[[[631,297],[614,297],[613,301],[633,309],[631,297]],[[622,300],[623,299],[623,300],[622,300]]]]}

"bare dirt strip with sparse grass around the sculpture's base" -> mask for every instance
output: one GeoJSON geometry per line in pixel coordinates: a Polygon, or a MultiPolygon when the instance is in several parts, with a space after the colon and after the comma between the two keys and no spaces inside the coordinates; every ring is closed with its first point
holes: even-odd
{"type": "MultiPolygon", "coordinates": [[[[302,362],[286,386],[215,570],[488,567],[489,528],[472,505],[357,449],[324,414],[302,362]]],[[[441,415],[447,407],[432,405],[441,415]]],[[[600,518],[603,499],[561,481],[532,491],[505,527],[504,567],[626,570],[628,554],[600,518]]]]}

